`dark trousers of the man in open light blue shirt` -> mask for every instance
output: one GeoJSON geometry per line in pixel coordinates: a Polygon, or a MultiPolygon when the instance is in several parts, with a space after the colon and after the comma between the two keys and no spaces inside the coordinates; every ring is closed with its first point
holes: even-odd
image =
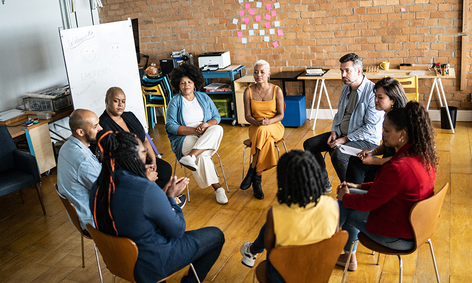
{"type": "MultiPolygon", "coordinates": [[[[323,172],[325,187],[329,187],[329,177],[328,171],[326,171],[326,163],[324,162],[323,155],[321,154],[321,152],[329,152],[329,154],[331,155],[331,163],[333,164],[334,170],[336,170],[336,174],[341,182],[346,179],[347,162],[349,161],[350,157],[350,155],[344,154],[339,149],[333,149],[328,145],[328,138],[330,135],[331,132],[327,132],[309,138],[303,143],[303,148],[305,149],[305,151],[310,151],[311,153],[313,153],[316,158],[316,161],[318,161],[318,164],[320,165],[321,170],[323,172]]],[[[376,147],[375,144],[370,143],[368,141],[349,141],[346,142],[344,145],[359,149],[371,149],[376,147]]]]}

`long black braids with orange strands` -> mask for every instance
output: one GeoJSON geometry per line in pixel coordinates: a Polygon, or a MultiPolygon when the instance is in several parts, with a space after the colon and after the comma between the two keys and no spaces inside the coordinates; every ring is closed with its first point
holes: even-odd
{"type": "Polygon", "coordinates": [[[111,212],[111,199],[115,189],[116,169],[127,170],[135,175],[146,178],[146,167],[139,157],[139,141],[136,135],[129,132],[105,132],[98,139],[98,147],[103,159],[102,168],[97,179],[93,218],[95,227],[103,233],[116,236],[111,212]]]}

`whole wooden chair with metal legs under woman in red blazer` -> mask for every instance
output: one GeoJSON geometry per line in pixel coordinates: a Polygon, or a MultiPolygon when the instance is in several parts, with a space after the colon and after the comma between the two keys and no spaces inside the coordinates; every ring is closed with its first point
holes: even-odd
{"type": "MultiPolygon", "coordinates": [[[[392,254],[398,256],[398,261],[400,264],[400,274],[399,282],[402,283],[403,275],[403,260],[400,255],[406,255],[415,252],[422,244],[427,242],[429,244],[429,249],[431,251],[431,257],[433,260],[434,271],[436,272],[436,279],[439,283],[439,273],[436,266],[436,258],[434,257],[433,245],[431,243],[431,237],[436,230],[437,220],[439,218],[439,212],[441,211],[442,203],[444,202],[444,197],[447,192],[449,183],[444,184],[441,190],[432,197],[429,197],[425,200],[417,202],[410,211],[410,224],[413,228],[413,233],[415,236],[415,246],[411,250],[395,250],[379,243],[375,242],[369,238],[366,234],[360,232],[358,235],[359,240],[355,241],[350,248],[349,256],[347,262],[350,260],[352,254],[352,248],[355,243],[361,242],[366,248],[373,251],[379,252],[379,258],[377,259],[377,265],[380,263],[380,253],[383,254],[392,254]]],[[[347,266],[347,265],[346,265],[347,266]]],[[[342,275],[342,283],[345,282],[347,276],[347,267],[344,268],[344,274],[342,275]]]]}

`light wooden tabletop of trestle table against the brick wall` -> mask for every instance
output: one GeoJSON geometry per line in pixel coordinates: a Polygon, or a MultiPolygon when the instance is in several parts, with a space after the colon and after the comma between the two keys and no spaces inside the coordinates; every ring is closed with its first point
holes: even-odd
{"type": "MultiPolygon", "coordinates": [[[[413,75],[410,75],[410,72],[418,70],[400,70],[400,69],[390,69],[388,71],[380,70],[379,72],[364,72],[367,78],[370,79],[381,79],[386,76],[393,78],[407,78],[413,75]]],[[[449,75],[438,76],[435,71],[425,71],[424,75],[418,75],[418,78],[455,78],[454,68],[449,68],[449,75]]],[[[341,72],[336,69],[330,69],[322,76],[299,76],[298,79],[341,79],[341,72]]]]}

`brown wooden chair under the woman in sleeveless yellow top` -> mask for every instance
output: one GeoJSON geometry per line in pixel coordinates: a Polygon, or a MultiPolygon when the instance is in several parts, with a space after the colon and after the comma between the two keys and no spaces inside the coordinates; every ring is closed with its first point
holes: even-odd
{"type": "MultiPolygon", "coordinates": [[[[277,247],[271,250],[269,259],[286,283],[328,282],[347,236],[346,231],[339,231],[318,243],[277,247]]],[[[265,260],[257,266],[254,282],[256,277],[261,283],[269,283],[265,260]]]]}

